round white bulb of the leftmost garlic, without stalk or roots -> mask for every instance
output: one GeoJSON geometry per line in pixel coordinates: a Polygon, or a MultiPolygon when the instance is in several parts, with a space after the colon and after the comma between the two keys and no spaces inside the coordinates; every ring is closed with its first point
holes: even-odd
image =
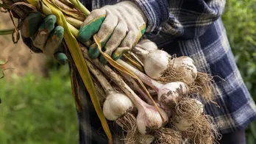
{"type": "Polygon", "coordinates": [[[133,107],[132,101],[124,94],[111,93],[104,101],[103,114],[107,120],[116,120],[133,107]]]}

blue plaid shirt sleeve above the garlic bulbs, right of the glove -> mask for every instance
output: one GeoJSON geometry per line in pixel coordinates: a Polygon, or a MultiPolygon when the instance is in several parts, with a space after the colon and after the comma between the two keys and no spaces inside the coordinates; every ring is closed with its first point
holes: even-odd
{"type": "Polygon", "coordinates": [[[160,31],[191,39],[203,35],[221,17],[224,0],[134,0],[148,18],[148,35],[160,31]]]}

